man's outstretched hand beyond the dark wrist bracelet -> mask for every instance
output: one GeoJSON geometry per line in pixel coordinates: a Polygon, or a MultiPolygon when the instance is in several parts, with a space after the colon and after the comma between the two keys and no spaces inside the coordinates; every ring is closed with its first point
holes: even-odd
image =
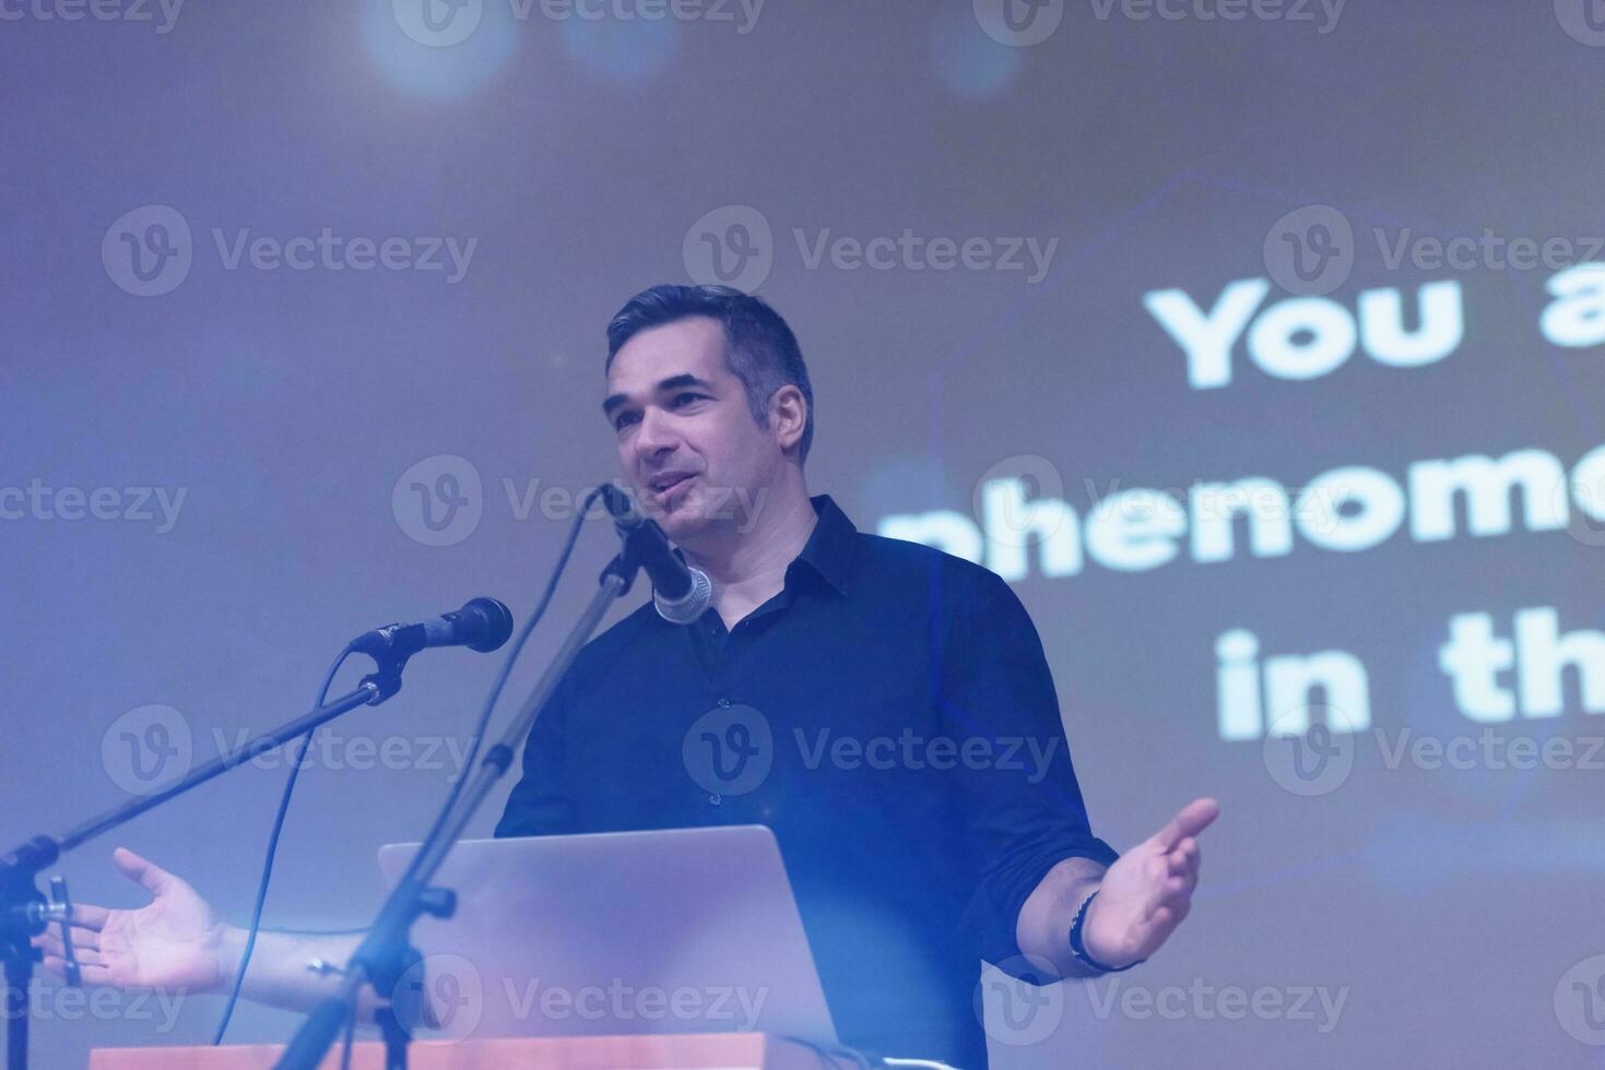
{"type": "Polygon", "coordinates": [[[1199,882],[1197,834],[1220,815],[1213,799],[1194,799],[1141,844],[1120,855],[1082,919],[1082,945],[1104,966],[1146,959],[1193,906],[1199,882]]]}

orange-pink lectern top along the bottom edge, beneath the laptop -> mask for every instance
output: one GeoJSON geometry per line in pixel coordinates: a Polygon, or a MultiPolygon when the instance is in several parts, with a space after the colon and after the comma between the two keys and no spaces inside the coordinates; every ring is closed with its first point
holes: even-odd
{"type": "MultiPolygon", "coordinates": [[[[282,1051],[281,1044],[96,1048],[90,1052],[90,1070],[271,1070],[282,1051]]],[[[339,1070],[339,1065],[335,1046],[323,1070],[339,1070]]],[[[351,1067],[382,1070],[384,1065],[384,1044],[353,1044],[351,1067]]],[[[836,1070],[851,1065],[764,1033],[417,1041],[408,1049],[408,1067],[414,1070],[836,1070]]]]}

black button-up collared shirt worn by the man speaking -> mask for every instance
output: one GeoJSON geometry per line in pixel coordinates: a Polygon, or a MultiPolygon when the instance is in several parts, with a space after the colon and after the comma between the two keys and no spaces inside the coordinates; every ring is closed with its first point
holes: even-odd
{"type": "Polygon", "coordinates": [[[1117,855],[1008,584],[812,502],[785,587],[733,629],[648,602],[584,646],[496,834],[767,825],[843,1043],[984,1067],[981,959],[1019,954],[1054,863],[1117,855]]]}

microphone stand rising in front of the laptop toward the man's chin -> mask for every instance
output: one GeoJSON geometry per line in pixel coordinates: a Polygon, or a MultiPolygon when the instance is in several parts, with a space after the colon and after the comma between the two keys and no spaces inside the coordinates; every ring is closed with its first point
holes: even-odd
{"type": "Polygon", "coordinates": [[[406,873],[396,881],[390,897],[379,908],[379,914],[369,927],[368,935],[363,937],[363,942],[347,963],[339,991],[313,1007],[311,1014],[295,1031],[289,1048],[286,1048],[284,1054],[274,1064],[276,1070],[316,1070],[323,1064],[323,1057],[329,1052],[329,1048],[334,1046],[335,1036],[343,1030],[345,1019],[350,1009],[356,1006],[356,998],[363,985],[372,985],[382,1006],[387,1001],[392,1004],[376,1015],[385,1041],[385,1070],[404,1070],[406,1048],[411,1036],[398,1020],[393,1004],[398,996],[404,995],[395,991],[401,977],[411,966],[422,959],[419,951],[411,946],[409,934],[412,922],[419,914],[451,918],[456,911],[456,894],[448,889],[430,887],[430,879],[446,860],[462,829],[480,809],[480,804],[485,802],[490,789],[512,765],[518,744],[530,735],[534,719],[546,706],[552,691],[557,690],[559,680],[568,672],[568,666],[579,655],[579,648],[584,646],[597,624],[602,622],[602,616],[608,606],[618,597],[629,592],[636,573],[642,568],[642,555],[648,545],[645,542],[647,536],[639,534],[644,529],[636,528],[631,531],[616,521],[615,528],[624,541],[624,549],[602,569],[595,597],[592,597],[591,603],[579,614],[563,645],[546,667],[546,674],[534,685],[534,691],[525,699],[518,709],[518,715],[507,727],[506,735],[496,746],[485,752],[457,807],[449,817],[437,821],[430,836],[424,839],[417,853],[412,855],[406,873]]]}

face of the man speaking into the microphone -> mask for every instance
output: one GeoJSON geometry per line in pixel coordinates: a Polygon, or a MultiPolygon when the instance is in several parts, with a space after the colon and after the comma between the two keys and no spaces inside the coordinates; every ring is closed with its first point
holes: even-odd
{"type": "Polygon", "coordinates": [[[671,539],[684,542],[721,520],[750,523],[782,451],[724,366],[717,319],[689,316],[634,335],[613,356],[607,393],[620,472],[671,539]]]}

